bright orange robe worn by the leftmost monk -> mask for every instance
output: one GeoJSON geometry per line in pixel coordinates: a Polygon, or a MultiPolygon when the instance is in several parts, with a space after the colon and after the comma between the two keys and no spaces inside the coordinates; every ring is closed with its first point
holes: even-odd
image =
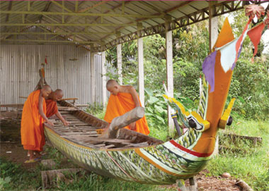
{"type": "MultiPolygon", "coordinates": [[[[21,144],[26,150],[42,151],[45,145],[44,119],[38,110],[40,90],[30,93],[23,106],[21,116],[21,144]]],[[[46,113],[45,99],[43,99],[43,112],[46,113]]]]}

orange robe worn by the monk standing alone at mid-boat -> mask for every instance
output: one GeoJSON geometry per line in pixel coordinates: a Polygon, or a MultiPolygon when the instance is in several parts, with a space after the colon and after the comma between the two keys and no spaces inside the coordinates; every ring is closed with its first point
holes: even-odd
{"type": "MultiPolygon", "coordinates": [[[[140,100],[139,100],[140,102],[140,100]]],[[[141,103],[140,103],[141,106],[141,103]]],[[[108,123],[113,121],[113,118],[122,116],[124,113],[135,108],[135,101],[129,93],[119,93],[118,95],[111,94],[108,99],[108,106],[105,111],[104,120],[108,123]]],[[[130,129],[130,126],[125,128],[130,129]]],[[[146,117],[140,118],[136,121],[136,130],[138,133],[149,135],[149,126],[147,125],[146,117]]]]}

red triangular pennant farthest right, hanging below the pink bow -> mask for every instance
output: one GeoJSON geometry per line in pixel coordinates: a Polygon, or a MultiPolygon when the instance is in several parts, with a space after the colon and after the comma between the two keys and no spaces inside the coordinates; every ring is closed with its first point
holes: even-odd
{"type": "Polygon", "coordinates": [[[265,27],[265,24],[261,23],[260,25],[257,25],[256,27],[253,27],[251,30],[248,31],[248,37],[251,39],[251,42],[253,43],[255,47],[253,58],[257,54],[258,44],[261,41],[261,32],[263,32],[264,27],[265,27]]]}

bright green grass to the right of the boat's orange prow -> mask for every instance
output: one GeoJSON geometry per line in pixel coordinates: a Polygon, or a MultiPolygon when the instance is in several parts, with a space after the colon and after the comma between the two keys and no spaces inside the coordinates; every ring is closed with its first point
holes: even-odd
{"type": "Polygon", "coordinates": [[[230,173],[234,178],[246,181],[254,190],[269,190],[269,122],[239,120],[231,128],[227,128],[219,135],[222,144],[241,149],[238,152],[226,152],[214,157],[207,166],[209,175],[230,173]],[[231,142],[222,133],[236,133],[262,137],[261,145],[254,146],[250,141],[239,140],[231,142]]]}

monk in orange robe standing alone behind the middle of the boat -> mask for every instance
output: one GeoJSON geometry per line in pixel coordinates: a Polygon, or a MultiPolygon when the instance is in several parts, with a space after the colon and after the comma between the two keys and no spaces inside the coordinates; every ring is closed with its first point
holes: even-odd
{"type": "MultiPolygon", "coordinates": [[[[104,120],[108,123],[111,123],[113,118],[122,116],[124,113],[135,109],[135,107],[141,106],[137,92],[131,85],[119,85],[115,80],[108,80],[106,88],[110,92],[110,97],[104,120]]],[[[145,116],[125,128],[149,135],[149,127],[145,116]]]]}

